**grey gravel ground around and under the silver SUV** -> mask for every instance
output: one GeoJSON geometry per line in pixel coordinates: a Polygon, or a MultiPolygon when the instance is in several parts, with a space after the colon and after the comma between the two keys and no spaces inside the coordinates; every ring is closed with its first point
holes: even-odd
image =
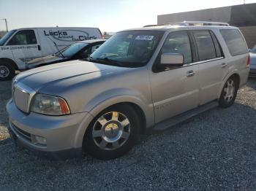
{"type": "Polygon", "coordinates": [[[46,160],[7,135],[10,82],[0,82],[0,190],[255,190],[256,80],[236,104],[147,136],[128,155],[46,160]]]}

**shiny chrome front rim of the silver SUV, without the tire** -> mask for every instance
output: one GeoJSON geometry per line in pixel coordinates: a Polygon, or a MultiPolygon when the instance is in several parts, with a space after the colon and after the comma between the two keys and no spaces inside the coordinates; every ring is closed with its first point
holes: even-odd
{"type": "Polygon", "coordinates": [[[103,114],[94,123],[92,137],[94,143],[101,149],[114,150],[121,147],[130,134],[130,122],[120,112],[103,114]]]}

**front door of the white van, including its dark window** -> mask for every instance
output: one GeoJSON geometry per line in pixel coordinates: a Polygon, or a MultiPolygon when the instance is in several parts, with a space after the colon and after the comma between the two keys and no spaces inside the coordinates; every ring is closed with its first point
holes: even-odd
{"type": "Polygon", "coordinates": [[[22,29],[17,31],[7,42],[12,50],[15,63],[19,69],[25,69],[25,63],[42,56],[37,31],[22,29]]]}

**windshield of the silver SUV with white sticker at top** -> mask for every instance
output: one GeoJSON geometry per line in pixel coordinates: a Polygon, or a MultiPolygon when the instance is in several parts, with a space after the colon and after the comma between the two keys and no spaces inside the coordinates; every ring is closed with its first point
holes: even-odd
{"type": "Polygon", "coordinates": [[[112,36],[90,56],[90,61],[123,67],[145,66],[164,31],[123,31],[112,36]]]}

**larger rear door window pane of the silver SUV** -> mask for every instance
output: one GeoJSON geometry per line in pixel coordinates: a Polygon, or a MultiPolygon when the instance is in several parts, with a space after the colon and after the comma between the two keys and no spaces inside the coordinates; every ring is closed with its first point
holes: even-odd
{"type": "Polygon", "coordinates": [[[206,61],[216,58],[214,42],[209,31],[194,31],[195,42],[199,55],[199,61],[206,61]]]}

